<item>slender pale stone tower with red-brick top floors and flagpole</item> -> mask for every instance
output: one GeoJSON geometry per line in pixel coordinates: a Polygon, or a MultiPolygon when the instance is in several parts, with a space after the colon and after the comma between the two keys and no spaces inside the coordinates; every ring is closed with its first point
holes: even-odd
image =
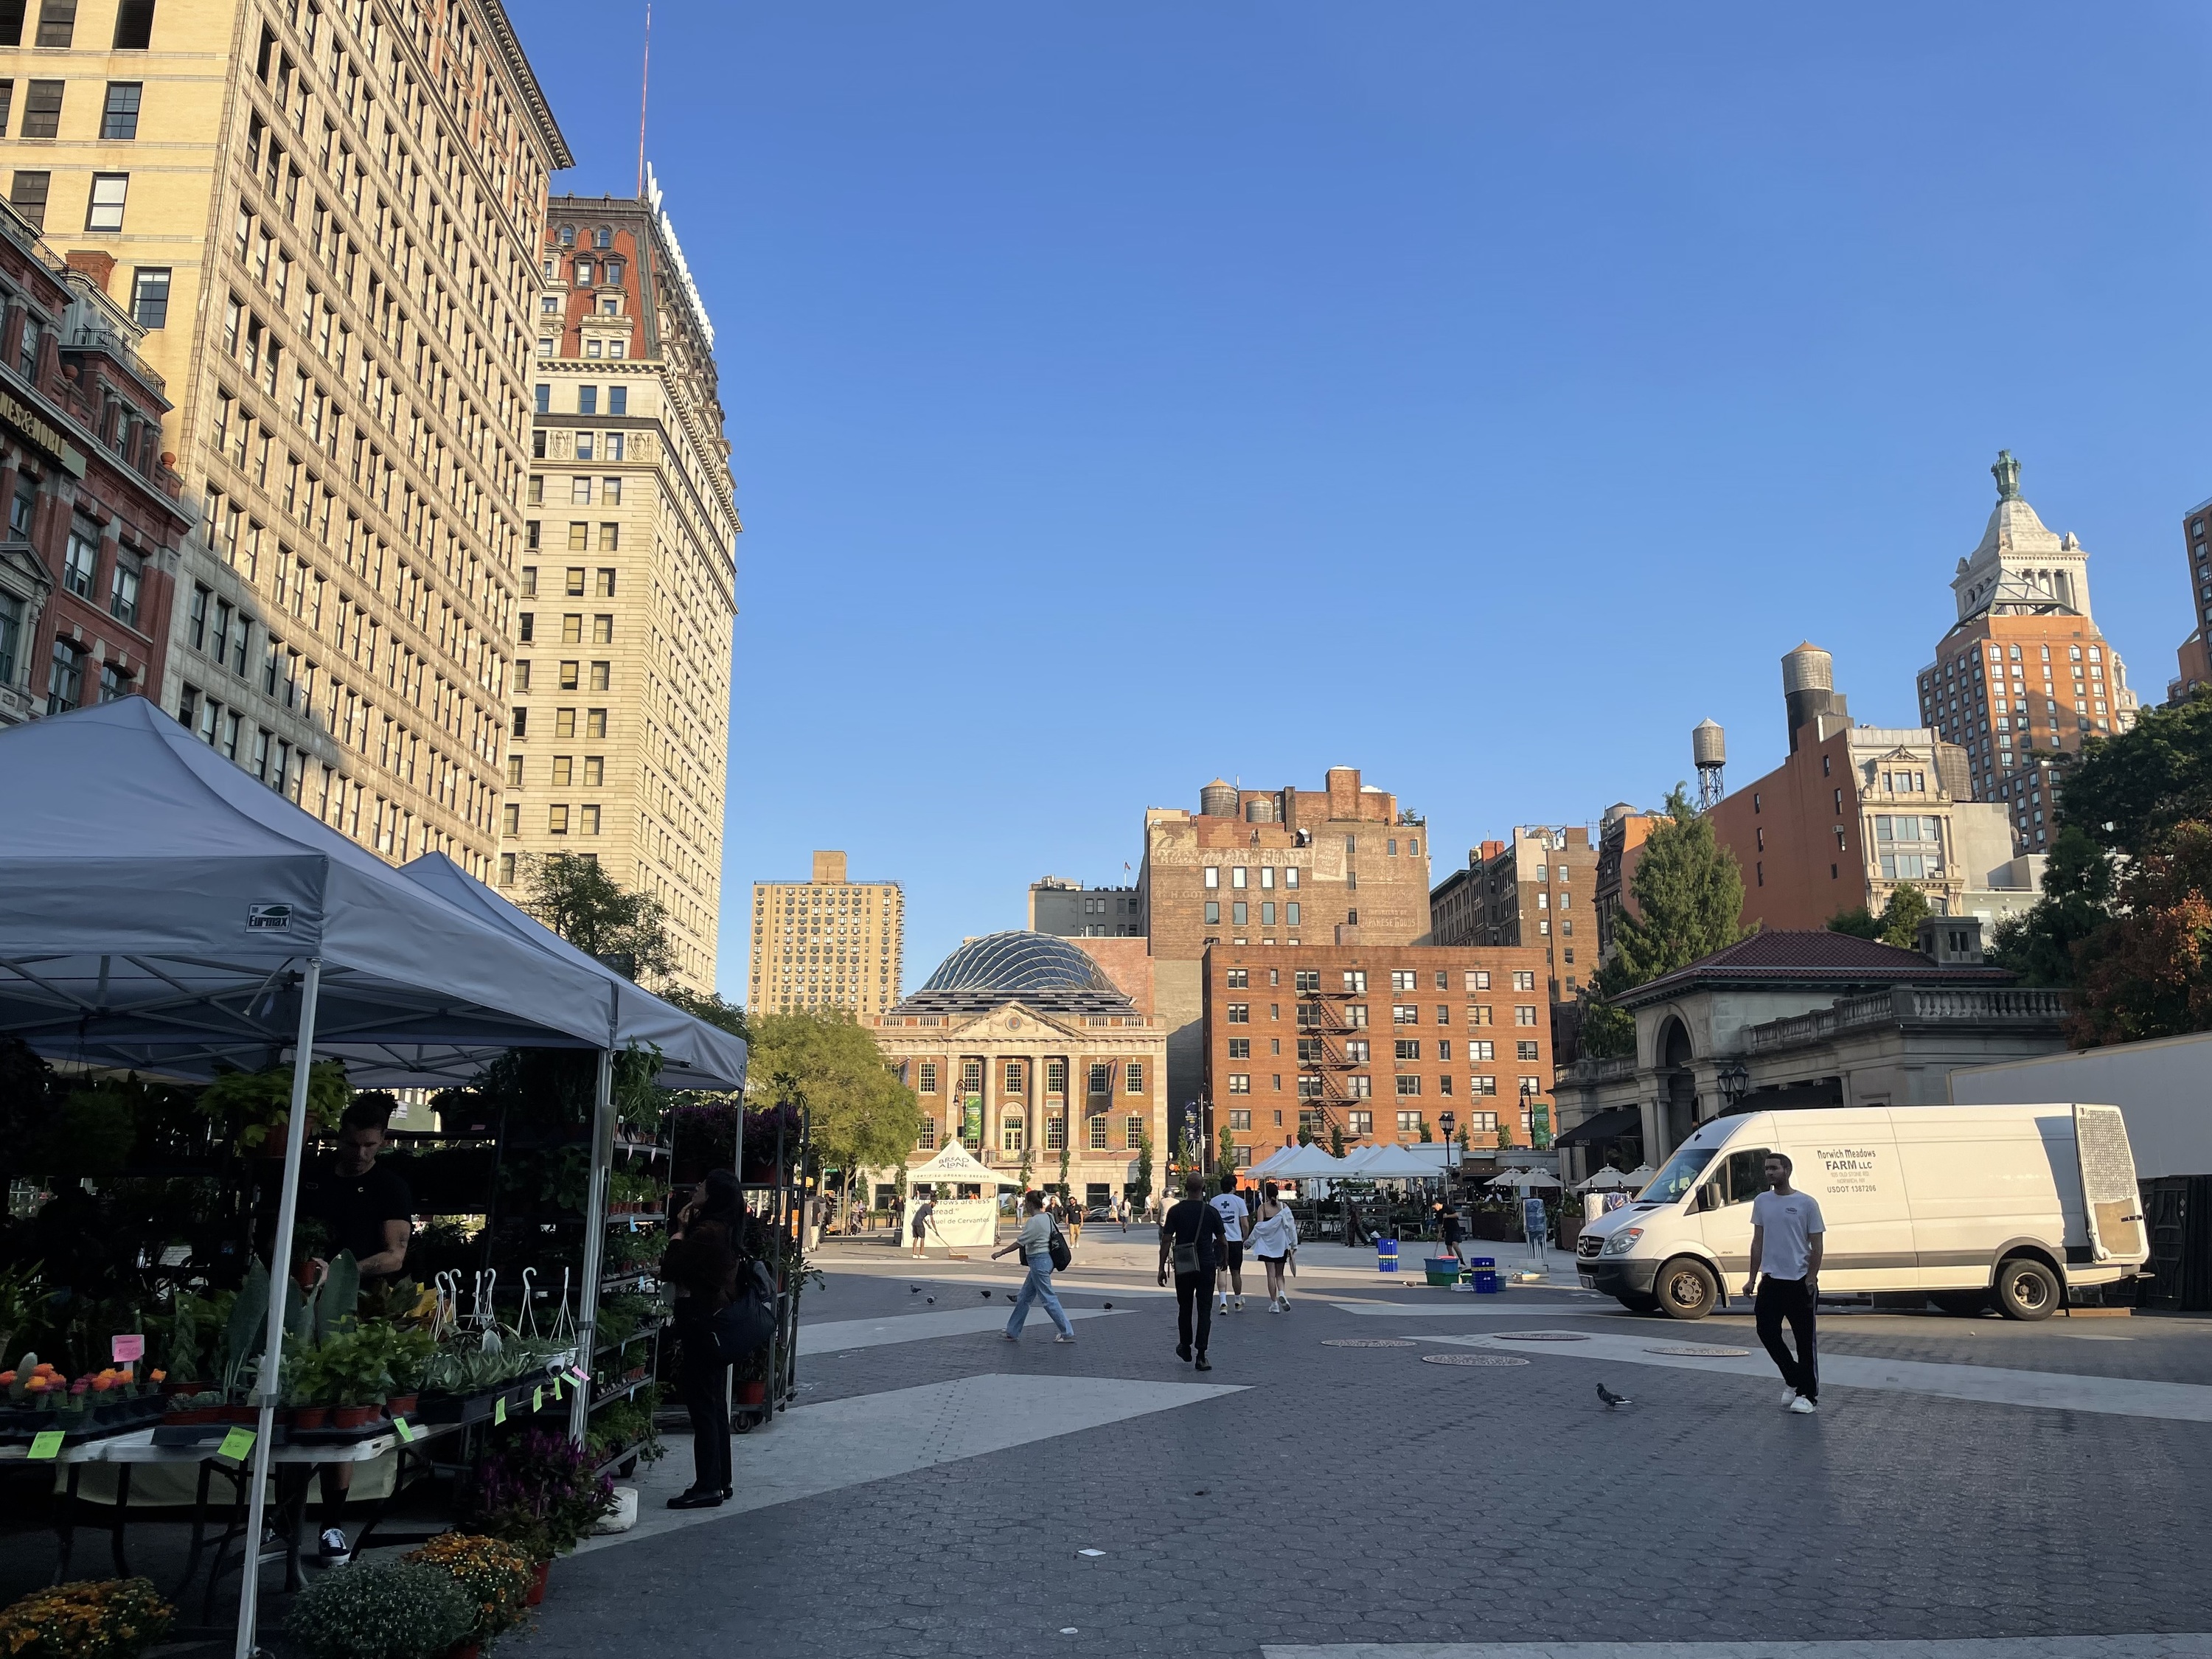
{"type": "Polygon", "coordinates": [[[595,858],[712,991],[741,529],[714,330],[657,188],[555,197],[540,261],[498,878],[595,858]]]}

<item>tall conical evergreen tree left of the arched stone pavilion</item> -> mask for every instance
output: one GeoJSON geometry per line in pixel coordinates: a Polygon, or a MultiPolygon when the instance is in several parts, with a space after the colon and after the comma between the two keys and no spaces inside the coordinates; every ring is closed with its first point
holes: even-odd
{"type": "Polygon", "coordinates": [[[1712,956],[1745,938],[1743,869],[1677,783],[1652,825],[1630,883],[1637,909],[1613,918],[1613,960],[1590,975],[1582,1011],[1586,1055],[1635,1053],[1635,1018],[1613,1006],[1624,991],[1712,956]]]}

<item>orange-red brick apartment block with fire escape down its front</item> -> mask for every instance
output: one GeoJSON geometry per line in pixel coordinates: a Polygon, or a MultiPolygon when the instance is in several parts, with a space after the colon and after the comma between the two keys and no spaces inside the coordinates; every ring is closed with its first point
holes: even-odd
{"type": "MultiPolygon", "coordinates": [[[[1528,1146],[1553,1088],[1537,947],[1214,945],[1206,951],[1210,1135],[1248,1166],[1298,1130],[1345,1144],[1528,1146]],[[1425,1133],[1427,1130],[1427,1133],[1425,1133]]],[[[1548,1121],[1548,1119],[1546,1119],[1548,1121]]]]}

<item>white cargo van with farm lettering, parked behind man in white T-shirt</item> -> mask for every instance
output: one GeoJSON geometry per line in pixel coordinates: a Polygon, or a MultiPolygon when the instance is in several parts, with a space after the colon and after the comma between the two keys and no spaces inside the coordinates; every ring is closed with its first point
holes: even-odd
{"type": "Polygon", "coordinates": [[[1743,1290],[1767,1152],[1820,1201],[1820,1294],[1995,1298],[2048,1318],[2068,1285],[2132,1279],[2150,1256],[2135,1152],[2115,1106],[1863,1106],[1717,1117],[1632,1203],[1584,1228],[1588,1290],[1703,1318],[1743,1290]]]}

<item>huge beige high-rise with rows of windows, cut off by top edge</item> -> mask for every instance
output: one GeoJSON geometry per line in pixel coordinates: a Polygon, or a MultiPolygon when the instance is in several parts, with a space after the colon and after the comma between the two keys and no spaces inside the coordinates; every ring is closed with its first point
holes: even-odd
{"type": "Polygon", "coordinates": [[[131,312],[173,405],[197,533],[161,706],[380,856],[489,878],[571,164],[507,13],[29,0],[0,80],[9,199],[131,312]]]}

